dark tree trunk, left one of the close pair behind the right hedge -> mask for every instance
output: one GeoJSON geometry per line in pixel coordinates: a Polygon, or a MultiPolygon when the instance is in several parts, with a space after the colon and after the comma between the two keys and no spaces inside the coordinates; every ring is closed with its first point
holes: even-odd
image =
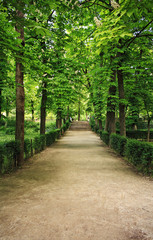
{"type": "MultiPolygon", "coordinates": [[[[111,82],[115,83],[116,81],[116,71],[113,71],[111,82]]],[[[109,87],[109,97],[107,99],[107,114],[106,114],[106,125],[105,131],[110,134],[116,133],[116,126],[115,126],[115,100],[114,96],[116,95],[116,86],[111,85],[109,87]]]]}

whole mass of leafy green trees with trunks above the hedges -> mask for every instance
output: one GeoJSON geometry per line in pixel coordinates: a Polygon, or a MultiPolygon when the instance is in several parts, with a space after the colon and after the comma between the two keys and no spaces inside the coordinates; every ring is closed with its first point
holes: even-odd
{"type": "Polygon", "coordinates": [[[150,140],[152,10],[152,0],[1,0],[0,143],[18,143],[18,166],[28,136],[70,117],[150,140]]]}

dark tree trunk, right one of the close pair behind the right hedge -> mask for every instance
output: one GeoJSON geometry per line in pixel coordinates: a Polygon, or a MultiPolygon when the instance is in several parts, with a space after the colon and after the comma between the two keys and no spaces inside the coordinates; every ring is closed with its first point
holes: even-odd
{"type": "Polygon", "coordinates": [[[126,136],[126,125],[125,125],[125,104],[123,100],[124,95],[124,83],[123,83],[123,72],[122,70],[117,70],[118,77],[118,91],[119,91],[119,121],[120,121],[120,135],[126,136]]]}

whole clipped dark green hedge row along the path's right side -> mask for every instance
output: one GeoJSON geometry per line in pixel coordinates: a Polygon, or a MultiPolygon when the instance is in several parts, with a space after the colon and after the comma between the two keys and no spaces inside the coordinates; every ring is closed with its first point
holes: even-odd
{"type": "MultiPolygon", "coordinates": [[[[90,120],[91,129],[97,132],[94,119],[90,120]]],[[[147,139],[147,130],[127,130],[127,137],[118,134],[111,134],[99,130],[100,138],[107,145],[110,145],[121,156],[135,166],[139,171],[153,175],[153,145],[147,142],[140,142],[137,139],[147,139]],[[133,139],[134,138],[134,139],[133,139]]],[[[150,139],[153,139],[153,131],[150,131],[150,139]]]]}

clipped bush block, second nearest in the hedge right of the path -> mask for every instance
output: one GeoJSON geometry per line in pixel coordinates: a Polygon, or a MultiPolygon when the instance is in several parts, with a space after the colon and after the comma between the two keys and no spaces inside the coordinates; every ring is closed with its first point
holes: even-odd
{"type": "Polygon", "coordinates": [[[121,156],[125,155],[125,146],[127,143],[127,138],[120,136],[118,134],[111,134],[110,136],[110,146],[121,156]]]}

